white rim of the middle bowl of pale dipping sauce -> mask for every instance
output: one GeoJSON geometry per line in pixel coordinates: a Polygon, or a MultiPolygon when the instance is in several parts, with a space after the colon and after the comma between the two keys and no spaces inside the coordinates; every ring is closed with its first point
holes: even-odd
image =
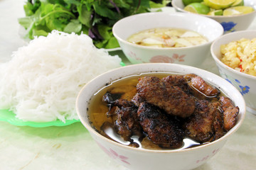
{"type": "MultiPolygon", "coordinates": [[[[157,27],[156,27],[157,28],[157,27]]],[[[115,38],[117,38],[117,40],[119,40],[120,42],[126,44],[126,45],[130,45],[132,47],[137,47],[137,48],[141,48],[141,49],[146,49],[146,50],[183,50],[183,49],[191,49],[194,47],[203,47],[203,46],[207,46],[210,45],[215,39],[219,38],[221,35],[223,35],[224,33],[224,28],[223,26],[221,26],[220,23],[218,23],[217,21],[213,20],[212,18],[207,18],[204,16],[200,16],[197,15],[196,13],[166,13],[166,12],[150,12],[150,13],[139,13],[139,14],[135,14],[132,16],[127,16],[125,18],[122,18],[121,20],[117,21],[116,23],[114,23],[114,26],[112,28],[112,33],[114,35],[115,38]],[[193,16],[193,17],[197,17],[197,18],[201,18],[203,20],[208,20],[212,23],[214,23],[216,26],[219,27],[220,29],[220,35],[215,35],[215,38],[213,40],[208,40],[208,42],[203,43],[201,45],[193,45],[193,46],[189,46],[189,47],[148,47],[148,46],[143,46],[143,45],[136,45],[133,44],[132,42],[128,42],[127,40],[124,40],[123,38],[120,38],[119,35],[117,35],[116,33],[116,27],[118,26],[118,24],[122,21],[124,21],[124,19],[127,18],[135,18],[138,16],[147,16],[147,15],[165,15],[165,16],[193,16]]],[[[199,33],[201,34],[201,33],[199,33]]]]}

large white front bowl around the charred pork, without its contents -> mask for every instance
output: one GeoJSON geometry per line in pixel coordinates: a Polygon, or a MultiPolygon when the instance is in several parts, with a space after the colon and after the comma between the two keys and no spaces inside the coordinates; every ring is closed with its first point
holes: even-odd
{"type": "Polygon", "coordinates": [[[105,74],[96,77],[82,88],[76,101],[76,108],[82,124],[87,128],[90,135],[92,135],[100,148],[116,162],[123,166],[127,166],[127,168],[132,170],[195,169],[196,167],[201,166],[201,164],[206,163],[211,157],[220,151],[226,140],[228,140],[230,135],[238,130],[245,118],[245,101],[243,100],[240,92],[228,83],[228,81],[225,81],[222,77],[203,69],[197,69],[195,67],[189,67],[182,64],[167,63],[134,64],[106,72],[105,74]],[[104,87],[107,83],[110,83],[110,81],[114,81],[121,77],[127,77],[132,74],[145,72],[198,74],[198,76],[201,76],[203,79],[210,82],[210,84],[218,86],[221,91],[234,101],[235,106],[240,108],[237,124],[223,137],[220,137],[219,140],[215,140],[214,142],[210,142],[206,145],[180,150],[151,150],[128,147],[109,140],[96,132],[95,129],[92,128],[87,115],[90,98],[96,91],[104,87]]]}

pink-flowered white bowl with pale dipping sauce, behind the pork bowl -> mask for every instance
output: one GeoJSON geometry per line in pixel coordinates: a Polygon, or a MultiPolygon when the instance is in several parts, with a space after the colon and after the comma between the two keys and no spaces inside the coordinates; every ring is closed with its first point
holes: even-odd
{"type": "Polygon", "coordinates": [[[200,67],[210,44],[223,35],[217,21],[191,13],[141,13],[112,28],[132,64],[164,62],[200,67]]]}

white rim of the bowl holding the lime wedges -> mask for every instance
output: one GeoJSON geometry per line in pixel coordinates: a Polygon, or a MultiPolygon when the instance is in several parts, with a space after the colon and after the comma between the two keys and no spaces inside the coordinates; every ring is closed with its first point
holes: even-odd
{"type": "MultiPolygon", "coordinates": [[[[176,2],[177,1],[182,1],[182,0],[172,0],[171,1],[171,6],[173,6],[174,8],[176,8],[178,11],[182,11],[183,13],[191,13],[189,11],[185,11],[183,8],[181,8],[180,6],[177,6],[176,5],[176,2]]],[[[251,6],[252,7],[252,6],[251,6]]],[[[253,7],[252,7],[253,8],[253,7]]],[[[199,16],[206,16],[208,18],[240,18],[240,17],[243,17],[243,16],[249,16],[249,15],[252,15],[252,14],[256,14],[256,9],[254,8],[254,11],[250,12],[250,13],[245,13],[245,14],[240,14],[240,15],[235,15],[235,16],[209,16],[209,15],[206,15],[206,14],[201,14],[201,13],[196,13],[197,15],[199,16]]]]}

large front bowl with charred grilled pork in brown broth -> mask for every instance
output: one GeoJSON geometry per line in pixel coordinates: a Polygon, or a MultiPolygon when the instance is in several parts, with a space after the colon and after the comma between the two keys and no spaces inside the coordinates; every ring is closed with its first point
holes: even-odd
{"type": "Polygon", "coordinates": [[[220,152],[245,118],[235,86],[168,63],[101,74],[82,88],[76,108],[97,145],[134,170],[195,169],[220,152]]]}

